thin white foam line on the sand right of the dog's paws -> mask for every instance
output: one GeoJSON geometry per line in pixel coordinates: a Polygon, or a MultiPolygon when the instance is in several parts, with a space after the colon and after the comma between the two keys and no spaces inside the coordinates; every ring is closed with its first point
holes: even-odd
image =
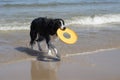
{"type": "Polygon", "coordinates": [[[110,49],[99,49],[91,52],[82,52],[82,53],[74,53],[74,54],[66,54],[63,57],[72,57],[72,56],[78,56],[78,55],[90,55],[90,54],[95,54],[99,52],[104,52],[104,51],[111,51],[111,50],[116,50],[118,48],[110,48],[110,49]]]}

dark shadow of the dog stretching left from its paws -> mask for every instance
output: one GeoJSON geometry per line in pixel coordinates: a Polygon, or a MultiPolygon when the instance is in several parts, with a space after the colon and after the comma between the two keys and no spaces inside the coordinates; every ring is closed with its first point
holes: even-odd
{"type": "Polygon", "coordinates": [[[44,62],[56,62],[56,61],[60,61],[59,58],[55,58],[55,57],[51,57],[51,56],[46,56],[46,52],[40,52],[37,50],[33,50],[30,48],[26,48],[26,47],[16,47],[15,48],[17,51],[20,51],[22,53],[25,53],[27,55],[30,56],[36,56],[37,60],[39,61],[44,61],[44,62]]]}

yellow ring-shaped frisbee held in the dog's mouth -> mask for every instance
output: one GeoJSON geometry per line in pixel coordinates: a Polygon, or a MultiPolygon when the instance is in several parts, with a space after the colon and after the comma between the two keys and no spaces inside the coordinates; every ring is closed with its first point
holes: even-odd
{"type": "Polygon", "coordinates": [[[59,28],[57,35],[66,44],[74,44],[78,39],[77,34],[69,28],[65,28],[65,30],[59,28]]]}

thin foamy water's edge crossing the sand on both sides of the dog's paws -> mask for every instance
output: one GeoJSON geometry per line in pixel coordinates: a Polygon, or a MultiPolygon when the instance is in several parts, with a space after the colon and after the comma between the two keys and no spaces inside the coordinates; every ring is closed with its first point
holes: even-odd
{"type": "MultiPolygon", "coordinates": [[[[94,55],[94,54],[98,54],[98,53],[110,52],[110,51],[119,50],[119,49],[120,48],[110,48],[110,49],[100,49],[100,50],[91,51],[91,52],[81,52],[81,53],[74,53],[74,54],[66,54],[66,55],[61,56],[61,60],[67,59],[69,57],[88,56],[88,55],[94,55]]],[[[11,61],[6,61],[6,62],[0,61],[0,66],[9,65],[9,64],[15,64],[15,63],[24,62],[24,61],[41,61],[41,60],[38,60],[37,57],[39,57],[37,54],[34,54],[34,56],[32,56],[31,53],[30,53],[30,54],[27,55],[27,57],[24,56],[23,58],[18,58],[18,59],[16,58],[15,60],[13,59],[11,61]]]]}

